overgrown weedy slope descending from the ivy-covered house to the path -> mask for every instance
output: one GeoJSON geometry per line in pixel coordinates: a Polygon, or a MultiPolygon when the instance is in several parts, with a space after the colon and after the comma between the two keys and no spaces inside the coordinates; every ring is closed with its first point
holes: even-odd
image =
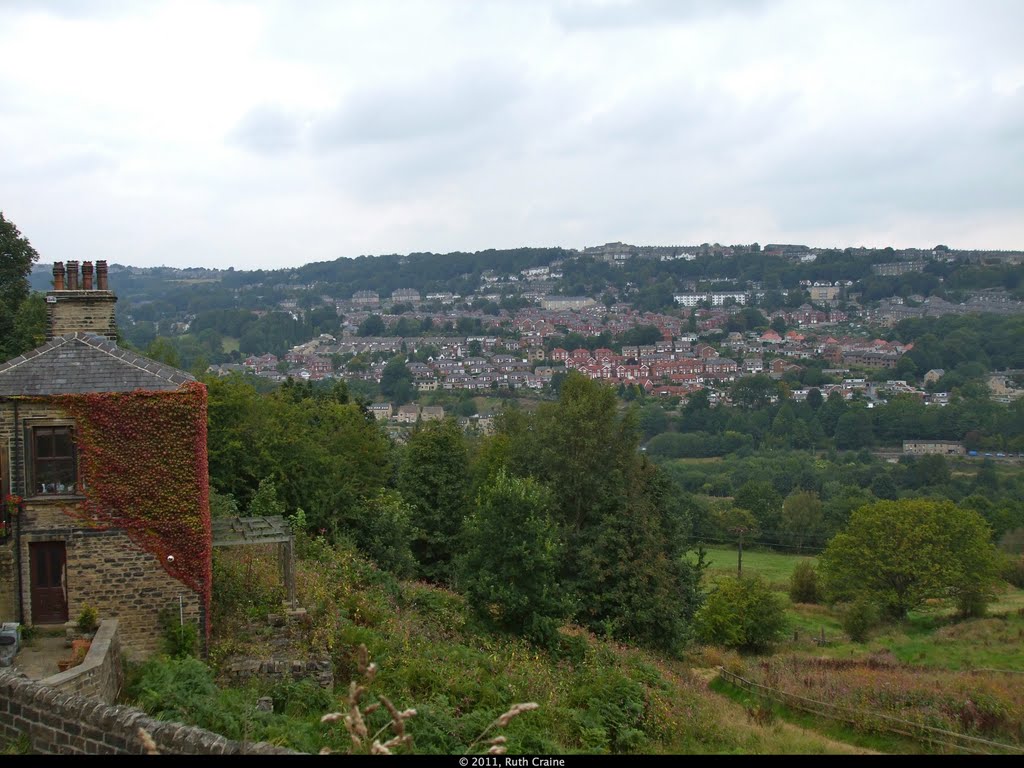
{"type": "MultiPolygon", "coordinates": [[[[311,684],[219,691],[210,685],[232,658],[270,653],[278,633],[266,615],[279,609],[281,597],[271,555],[218,553],[211,676],[195,660],[150,663],[134,671],[129,698],[232,738],[344,752],[344,729],[318,720],[345,709],[348,679],[362,681],[357,650],[365,645],[379,665],[367,695],[416,709],[407,726],[417,754],[463,753],[489,723],[524,701],[539,708],[501,730],[510,755],[865,752],[803,728],[759,724],[746,708],[708,689],[707,677],[693,669],[708,658],[659,656],[571,627],[563,628],[555,652],[539,651],[474,626],[457,594],[399,582],[344,548],[305,541],[298,585],[310,616],[299,645],[312,656],[329,654],[333,694],[311,684]],[[250,714],[261,696],[272,698],[274,714],[250,714]]],[[[226,682],[223,674],[219,682],[226,682]]],[[[386,721],[374,715],[371,731],[386,721]]]]}

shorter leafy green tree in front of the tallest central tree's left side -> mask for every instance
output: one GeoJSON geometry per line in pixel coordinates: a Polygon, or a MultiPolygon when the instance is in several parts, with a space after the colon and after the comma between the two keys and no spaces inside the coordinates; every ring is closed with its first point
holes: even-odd
{"type": "Polygon", "coordinates": [[[551,503],[536,480],[499,470],[477,495],[457,559],[458,587],[477,616],[549,646],[569,612],[551,503]]]}

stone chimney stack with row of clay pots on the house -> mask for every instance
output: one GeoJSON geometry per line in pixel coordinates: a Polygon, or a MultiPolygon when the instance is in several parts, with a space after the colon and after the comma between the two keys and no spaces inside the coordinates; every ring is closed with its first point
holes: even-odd
{"type": "Polygon", "coordinates": [[[73,333],[118,340],[114,308],[118,297],[108,287],[106,262],[82,262],[79,284],[77,261],[53,264],[53,290],[46,294],[47,340],[73,333]],[[95,274],[95,288],[93,288],[95,274]]]}

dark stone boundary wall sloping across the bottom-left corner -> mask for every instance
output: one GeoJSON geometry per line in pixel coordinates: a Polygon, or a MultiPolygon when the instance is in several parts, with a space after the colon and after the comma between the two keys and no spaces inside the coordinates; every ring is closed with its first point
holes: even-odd
{"type": "Polygon", "coordinates": [[[67,693],[13,672],[0,672],[0,741],[28,734],[42,755],[142,755],[145,729],[162,755],[300,755],[273,744],[232,741],[178,723],[155,720],[132,707],[67,693]]]}

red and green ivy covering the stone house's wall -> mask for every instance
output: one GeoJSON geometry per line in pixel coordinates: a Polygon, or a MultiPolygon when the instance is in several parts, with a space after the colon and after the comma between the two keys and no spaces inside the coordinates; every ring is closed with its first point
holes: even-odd
{"type": "MultiPolygon", "coordinates": [[[[123,528],[210,615],[212,535],[206,387],[59,395],[75,419],[82,518],[123,528]],[[171,559],[173,558],[173,559],[171,559]]],[[[209,632],[209,622],[207,622],[209,632]]]]}

